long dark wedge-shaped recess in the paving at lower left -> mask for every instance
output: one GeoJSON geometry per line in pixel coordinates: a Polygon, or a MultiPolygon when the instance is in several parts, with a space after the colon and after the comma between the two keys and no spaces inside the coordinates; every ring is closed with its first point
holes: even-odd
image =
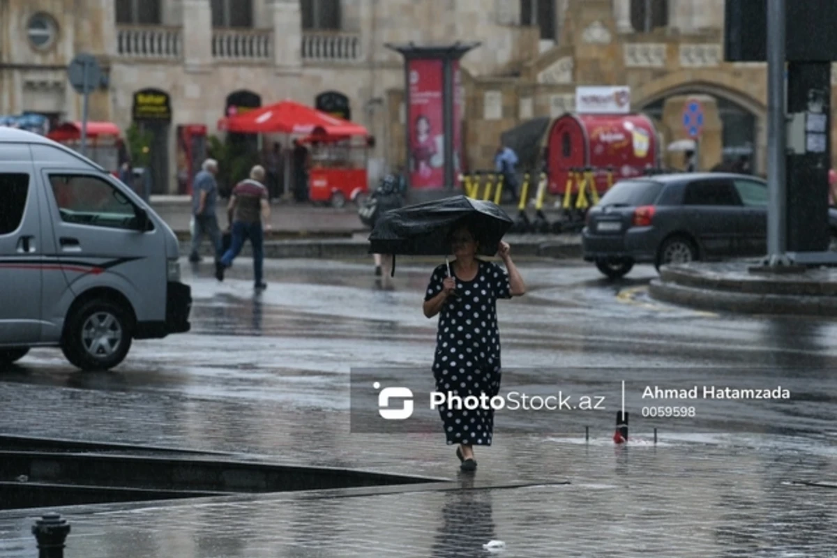
{"type": "Polygon", "coordinates": [[[229,454],[0,436],[0,509],[110,504],[438,482],[229,454]]]}

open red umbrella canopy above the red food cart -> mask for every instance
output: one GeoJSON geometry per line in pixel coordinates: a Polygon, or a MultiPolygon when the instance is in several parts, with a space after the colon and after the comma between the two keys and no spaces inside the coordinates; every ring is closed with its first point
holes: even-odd
{"type": "Polygon", "coordinates": [[[242,134],[326,134],[367,136],[362,125],[327,115],[292,100],[218,120],[218,129],[242,134]]]}

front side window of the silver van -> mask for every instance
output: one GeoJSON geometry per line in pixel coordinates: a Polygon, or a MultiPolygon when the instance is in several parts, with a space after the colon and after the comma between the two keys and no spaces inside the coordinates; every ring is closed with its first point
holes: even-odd
{"type": "Polygon", "coordinates": [[[136,229],[136,207],[99,177],[50,174],[49,185],[65,223],[136,229]]]}

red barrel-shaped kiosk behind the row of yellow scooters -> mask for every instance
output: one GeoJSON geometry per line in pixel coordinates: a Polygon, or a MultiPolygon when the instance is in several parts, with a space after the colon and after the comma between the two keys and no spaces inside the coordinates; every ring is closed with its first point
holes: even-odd
{"type": "Polygon", "coordinates": [[[563,195],[570,172],[591,168],[596,190],[613,182],[639,177],[660,166],[660,140],[654,123],[645,115],[580,115],[557,118],[547,132],[548,191],[563,195]]]}

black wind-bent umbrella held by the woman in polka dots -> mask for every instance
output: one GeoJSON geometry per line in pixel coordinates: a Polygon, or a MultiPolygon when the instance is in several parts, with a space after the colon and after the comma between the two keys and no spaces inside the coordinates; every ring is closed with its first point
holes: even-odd
{"type": "Polygon", "coordinates": [[[480,243],[479,255],[493,256],[513,223],[495,203],[446,197],[384,213],[369,235],[369,253],[447,256],[451,233],[468,224],[480,243]]]}

